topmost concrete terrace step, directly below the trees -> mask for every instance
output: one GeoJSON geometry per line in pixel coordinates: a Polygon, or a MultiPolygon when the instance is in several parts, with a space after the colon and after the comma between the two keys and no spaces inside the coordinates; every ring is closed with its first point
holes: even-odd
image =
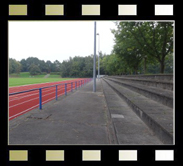
{"type": "Polygon", "coordinates": [[[137,84],[142,84],[146,86],[152,86],[157,88],[162,88],[166,90],[173,90],[173,82],[172,81],[162,81],[162,80],[156,80],[156,79],[141,79],[140,77],[134,78],[134,77],[120,77],[120,76],[110,76],[110,78],[116,78],[119,80],[123,80],[126,82],[132,82],[137,84]]]}

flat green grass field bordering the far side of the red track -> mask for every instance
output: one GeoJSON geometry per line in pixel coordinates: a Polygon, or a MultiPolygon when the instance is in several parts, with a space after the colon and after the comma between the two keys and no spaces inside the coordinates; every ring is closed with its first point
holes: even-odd
{"type": "Polygon", "coordinates": [[[74,78],[9,78],[9,87],[72,80],[74,78]]]}

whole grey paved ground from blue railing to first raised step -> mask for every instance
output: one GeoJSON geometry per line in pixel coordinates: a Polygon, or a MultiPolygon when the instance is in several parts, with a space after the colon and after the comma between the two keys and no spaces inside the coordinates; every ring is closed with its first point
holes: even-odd
{"type": "Polygon", "coordinates": [[[9,144],[159,145],[161,141],[104,81],[90,82],[9,123],[9,144]]]}

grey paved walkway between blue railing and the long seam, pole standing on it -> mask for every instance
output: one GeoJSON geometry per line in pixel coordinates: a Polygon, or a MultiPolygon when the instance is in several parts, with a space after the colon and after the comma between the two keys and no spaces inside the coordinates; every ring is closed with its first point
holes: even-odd
{"type": "Polygon", "coordinates": [[[9,123],[9,144],[115,144],[102,84],[97,80],[9,123]]]}

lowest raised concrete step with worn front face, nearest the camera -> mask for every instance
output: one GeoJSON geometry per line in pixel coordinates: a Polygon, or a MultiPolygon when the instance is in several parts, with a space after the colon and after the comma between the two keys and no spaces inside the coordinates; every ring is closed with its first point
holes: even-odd
{"type": "Polygon", "coordinates": [[[173,144],[173,111],[113,81],[103,79],[133,111],[153,130],[164,144],[173,144]]]}

